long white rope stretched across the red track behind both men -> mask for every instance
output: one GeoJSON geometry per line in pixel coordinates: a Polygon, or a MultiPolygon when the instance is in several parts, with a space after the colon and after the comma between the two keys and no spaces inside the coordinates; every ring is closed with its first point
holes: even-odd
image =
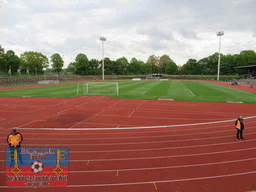
{"type": "MultiPolygon", "coordinates": [[[[255,118],[256,116],[246,117],[244,119],[255,118]]],[[[19,130],[61,130],[61,131],[73,131],[73,130],[132,130],[132,129],[153,129],[153,128],[164,128],[164,127],[176,127],[176,126],[193,126],[193,125],[202,125],[202,124],[214,124],[214,123],[224,123],[236,121],[237,119],[225,120],[225,121],[215,121],[215,122],[206,122],[206,123],[194,123],[194,124],[180,124],[180,125],[164,125],[164,126],[142,126],[142,127],[117,127],[117,128],[81,128],[81,129],[58,129],[58,128],[19,128],[13,127],[13,129],[19,130]]]]}

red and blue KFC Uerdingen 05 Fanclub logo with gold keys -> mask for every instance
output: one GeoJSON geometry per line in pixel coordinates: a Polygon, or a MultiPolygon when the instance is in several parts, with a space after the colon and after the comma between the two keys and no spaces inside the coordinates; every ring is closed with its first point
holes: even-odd
{"type": "Polygon", "coordinates": [[[69,184],[67,147],[9,147],[5,151],[7,186],[46,187],[69,184]]]}

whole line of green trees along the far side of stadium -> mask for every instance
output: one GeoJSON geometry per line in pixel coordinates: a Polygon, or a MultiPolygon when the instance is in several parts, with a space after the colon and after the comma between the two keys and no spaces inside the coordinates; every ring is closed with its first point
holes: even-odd
{"type": "MultiPolygon", "coordinates": [[[[215,75],[218,69],[219,53],[196,60],[189,58],[183,66],[177,66],[168,55],[151,55],[147,61],[132,58],[128,61],[125,57],[111,60],[104,58],[104,74],[106,75],[146,75],[150,73],[163,73],[168,75],[215,75]]],[[[221,74],[245,74],[247,71],[233,69],[234,67],[256,65],[256,53],[253,50],[244,50],[240,54],[221,54],[221,74]]],[[[18,57],[14,51],[5,52],[0,45],[0,71],[7,73],[10,68],[12,73],[29,70],[30,73],[52,69],[61,72],[64,61],[60,54],[55,53],[49,58],[39,52],[25,51],[18,57]]],[[[73,62],[70,62],[65,72],[78,75],[102,75],[102,60],[89,60],[86,54],[79,53],[73,62]]]]}

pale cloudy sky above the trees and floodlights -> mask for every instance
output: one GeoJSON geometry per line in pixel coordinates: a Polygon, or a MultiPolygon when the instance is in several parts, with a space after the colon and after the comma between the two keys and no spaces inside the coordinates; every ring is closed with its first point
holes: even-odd
{"type": "Polygon", "coordinates": [[[177,65],[219,52],[256,51],[256,0],[0,0],[0,45],[116,60],[169,55],[177,65]]]}

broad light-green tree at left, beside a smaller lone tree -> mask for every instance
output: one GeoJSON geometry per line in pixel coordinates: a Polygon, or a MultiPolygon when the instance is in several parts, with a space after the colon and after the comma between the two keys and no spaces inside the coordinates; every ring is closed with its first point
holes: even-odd
{"type": "Polygon", "coordinates": [[[34,51],[25,51],[20,54],[20,63],[22,67],[29,68],[29,72],[42,71],[43,68],[49,67],[49,59],[42,53],[34,51]]]}

